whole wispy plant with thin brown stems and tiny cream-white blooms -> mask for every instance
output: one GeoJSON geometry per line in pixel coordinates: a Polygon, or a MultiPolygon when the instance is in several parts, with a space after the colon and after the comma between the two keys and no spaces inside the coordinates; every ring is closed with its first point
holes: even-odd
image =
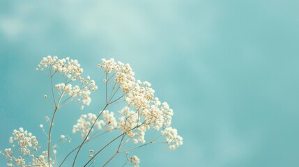
{"type": "MultiPolygon", "coordinates": [[[[98,65],[105,73],[105,104],[102,104],[100,113],[82,114],[73,125],[72,133],[80,133],[82,142],[66,155],[61,161],[57,161],[56,155],[59,143],[70,142],[68,135],[61,135],[60,140],[52,143],[52,127],[54,118],[61,107],[78,102],[79,109],[89,106],[91,103],[91,93],[98,89],[95,81],[89,76],[82,77],[83,69],[77,60],[70,58],[59,59],[57,56],[47,56],[43,58],[36,68],[39,72],[44,72],[51,82],[51,96],[53,101],[52,117],[46,117],[49,123],[49,129],[40,128],[47,136],[47,148],[38,145],[36,136],[20,127],[13,130],[13,136],[9,138],[12,143],[11,148],[6,148],[1,154],[7,159],[7,166],[38,166],[38,167],[56,167],[63,166],[66,161],[71,161],[72,166],[76,166],[82,148],[89,141],[107,132],[116,132],[117,136],[111,138],[102,148],[89,150],[89,159],[84,163],[85,166],[91,166],[100,152],[112,143],[117,143],[117,148],[112,157],[109,157],[102,166],[109,164],[116,154],[125,154],[126,161],[120,166],[139,166],[140,160],[134,155],[129,157],[129,152],[138,148],[154,143],[166,144],[170,150],[175,150],[183,144],[183,138],[178,135],[177,130],[171,127],[171,116],[173,110],[170,109],[167,102],[160,102],[155,97],[155,90],[151,88],[148,81],[139,81],[134,77],[134,72],[129,64],[102,59],[98,65]],[[62,81],[54,84],[54,77],[62,76],[62,81]],[[122,103],[121,103],[122,102],[122,103]],[[112,104],[123,105],[123,109],[118,112],[108,111],[112,104]],[[152,131],[153,136],[146,141],[146,133],[152,131]],[[161,138],[164,138],[161,139],[161,138]],[[135,145],[132,148],[125,147],[128,143],[135,145]],[[75,156],[70,157],[71,154],[75,156]]],[[[45,95],[47,98],[47,95],[45,95]]],[[[99,106],[101,104],[99,103],[99,106]]],[[[96,146],[96,145],[94,145],[96,146]]]]}

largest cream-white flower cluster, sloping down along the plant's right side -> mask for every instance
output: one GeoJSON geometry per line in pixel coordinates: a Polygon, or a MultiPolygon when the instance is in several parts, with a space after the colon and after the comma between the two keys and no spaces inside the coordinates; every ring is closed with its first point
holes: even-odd
{"type": "Polygon", "coordinates": [[[174,150],[183,144],[183,138],[178,136],[176,129],[171,127],[173,110],[170,109],[167,102],[160,102],[158,97],[155,97],[155,90],[151,88],[148,81],[136,81],[135,73],[132,72],[130,65],[124,65],[121,62],[116,63],[113,58],[102,59],[102,64],[98,66],[104,68],[106,74],[115,72],[114,81],[125,93],[125,102],[128,103],[128,107],[119,112],[121,117],[118,119],[118,129],[132,138],[133,143],[145,143],[144,135],[150,127],[153,127],[156,131],[162,128],[162,134],[165,134],[167,143],[176,141],[174,145],[169,146],[169,149],[174,150]],[[130,106],[135,111],[130,110],[130,106]],[[171,134],[167,133],[169,129],[172,129],[170,132],[173,134],[171,140],[169,140],[171,134]],[[174,136],[174,134],[176,135],[174,136]]]}

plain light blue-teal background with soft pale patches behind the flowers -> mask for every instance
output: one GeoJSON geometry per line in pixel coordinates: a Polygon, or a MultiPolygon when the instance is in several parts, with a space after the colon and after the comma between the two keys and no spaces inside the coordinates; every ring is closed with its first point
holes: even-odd
{"type": "MultiPolygon", "coordinates": [[[[113,57],[151,82],[184,138],[174,152],[133,152],[141,166],[299,166],[298,8],[291,0],[1,0],[0,148],[17,127],[46,139],[38,125],[52,112],[49,81],[35,72],[43,56],[77,58],[99,84],[96,65],[113,57]]],[[[100,110],[101,93],[84,111],[65,108],[56,136],[100,110]]]]}

